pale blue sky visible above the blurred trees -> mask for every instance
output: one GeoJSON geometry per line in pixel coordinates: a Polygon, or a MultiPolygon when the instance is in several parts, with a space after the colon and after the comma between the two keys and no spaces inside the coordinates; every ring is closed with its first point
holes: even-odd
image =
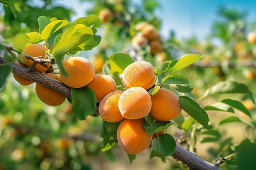
{"type": "MultiPolygon", "coordinates": [[[[245,11],[248,20],[256,21],[256,0],[158,1],[162,7],[156,11],[156,15],[163,21],[160,29],[162,36],[168,36],[170,30],[173,30],[180,39],[196,36],[203,40],[205,36],[209,35],[213,21],[218,19],[217,10],[220,6],[245,11]]],[[[56,3],[73,8],[76,11],[73,20],[85,16],[86,9],[91,7],[87,2],[80,2],[80,0],[58,0],[56,3]]]]}

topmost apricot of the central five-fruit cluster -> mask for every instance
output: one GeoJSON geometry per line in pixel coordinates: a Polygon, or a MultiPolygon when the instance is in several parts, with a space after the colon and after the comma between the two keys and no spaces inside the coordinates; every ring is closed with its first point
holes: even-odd
{"type": "Polygon", "coordinates": [[[138,86],[147,90],[155,83],[154,67],[146,61],[131,63],[123,70],[122,83],[125,88],[138,86]]]}

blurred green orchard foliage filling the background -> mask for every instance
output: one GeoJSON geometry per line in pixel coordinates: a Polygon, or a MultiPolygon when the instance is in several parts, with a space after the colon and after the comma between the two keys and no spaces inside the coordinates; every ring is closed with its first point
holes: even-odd
{"type": "MultiPolygon", "coordinates": [[[[154,13],[155,8],[160,8],[156,0],[136,4],[130,0],[82,1],[92,5],[85,16],[96,14],[105,22],[98,31],[98,35],[102,36],[100,45],[91,52],[79,54],[92,61],[97,73],[102,73],[102,66],[108,62],[108,57],[117,52],[129,53],[134,59],[143,59],[153,65],[182,54],[198,53],[207,57],[180,71],[194,87],[190,94],[194,99],[222,80],[245,83],[255,95],[256,44],[247,41],[246,36],[256,31],[256,24],[247,22],[245,12],[222,7],[216,11],[218,20],[212,23],[212,31],[203,41],[193,36],[181,40],[177,39],[174,31],[164,37],[160,35],[162,19],[154,13]],[[104,10],[106,15],[101,16],[104,10]],[[148,39],[143,45],[134,40],[138,35],[143,36],[138,28],[141,22],[152,25],[157,37],[148,39]],[[151,42],[155,39],[160,43],[157,52],[152,51],[151,42]]],[[[42,6],[36,7],[34,1],[14,1],[18,15],[16,19],[9,7],[0,6],[1,11],[4,10],[0,16],[1,44],[23,50],[28,42],[24,34],[38,31],[37,19],[41,15],[70,20],[75,12],[68,7],[54,6],[54,2],[40,1],[42,6]]],[[[34,88],[35,84],[20,86],[10,76],[9,82],[0,92],[1,170],[186,168],[173,158],[166,163],[158,158],[149,161],[148,151],[138,154],[132,165],[129,165],[126,153],[118,146],[114,150],[101,152],[102,120],[99,117],[79,121],[72,115],[68,101],[59,107],[49,107],[38,99],[34,88]]],[[[196,151],[198,156],[209,162],[233,154],[242,141],[240,148],[246,150],[246,146],[250,146],[244,144],[246,139],[256,142],[256,109],[253,103],[240,95],[213,96],[199,103],[204,107],[226,97],[242,101],[252,118],[242,112],[236,112],[236,116],[250,124],[233,122],[218,125],[221,120],[234,114],[209,111],[210,128],[217,131],[217,134],[209,135],[204,134],[204,129],[183,113],[175,120],[177,128],[171,126],[168,131],[176,137],[177,142],[190,151],[196,151]]],[[[250,156],[247,159],[253,159],[250,156]]],[[[238,169],[246,167],[242,165],[238,169]]],[[[221,168],[232,169],[232,162],[221,164],[221,168]]]]}

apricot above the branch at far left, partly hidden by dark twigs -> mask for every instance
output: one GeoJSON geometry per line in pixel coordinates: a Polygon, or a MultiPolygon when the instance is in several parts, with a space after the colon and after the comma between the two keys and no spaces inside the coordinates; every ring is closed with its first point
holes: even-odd
{"type": "MultiPolygon", "coordinates": [[[[30,44],[24,48],[23,53],[32,56],[32,57],[39,57],[39,56],[46,56],[46,47],[42,44],[30,44]]],[[[22,61],[25,62],[28,67],[30,67],[33,63],[31,59],[27,59],[26,57],[22,58],[22,61]]],[[[44,67],[40,64],[37,64],[35,69],[39,71],[40,73],[45,73],[49,67],[51,66],[51,63],[46,63],[48,67],[44,67]]]]}

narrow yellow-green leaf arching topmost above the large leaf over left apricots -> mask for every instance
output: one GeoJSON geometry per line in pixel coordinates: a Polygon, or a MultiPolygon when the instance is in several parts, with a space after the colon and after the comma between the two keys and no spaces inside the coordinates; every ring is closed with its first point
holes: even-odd
{"type": "Polygon", "coordinates": [[[102,20],[100,18],[98,18],[97,15],[89,15],[89,16],[85,16],[85,17],[76,19],[73,23],[70,24],[70,27],[72,27],[76,24],[84,24],[87,27],[90,27],[93,25],[93,27],[98,28],[104,23],[102,22],[102,20]]]}

